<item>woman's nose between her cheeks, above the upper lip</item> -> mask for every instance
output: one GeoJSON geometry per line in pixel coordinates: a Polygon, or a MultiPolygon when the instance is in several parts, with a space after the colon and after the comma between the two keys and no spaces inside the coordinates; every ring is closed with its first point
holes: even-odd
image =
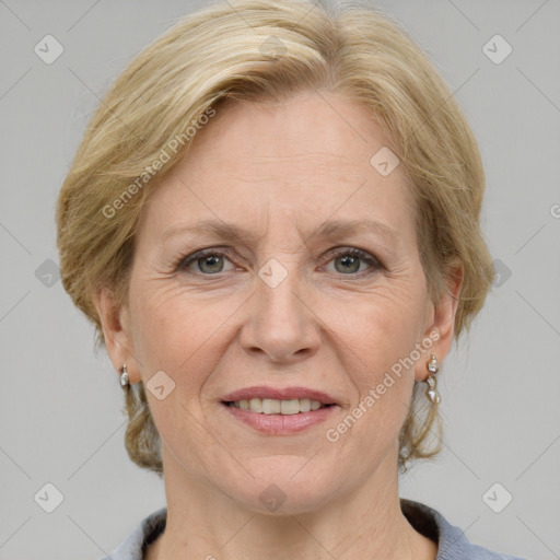
{"type": "Polygon", "coordinates": [[[247,302],[247,318],[241,334],[245,351],[261,354],[276,364],[290,364],[308,359],[318,350],[317,299],[310,290],[303,290],[301,283],[295,269],[291,269],[278,285],[269,284],[260,277],[256,279],[256,290],[247,302]]]}

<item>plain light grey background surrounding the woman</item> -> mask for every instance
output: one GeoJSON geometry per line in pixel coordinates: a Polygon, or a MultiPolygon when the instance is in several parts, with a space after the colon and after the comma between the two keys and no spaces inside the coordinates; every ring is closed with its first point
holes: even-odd
{"type": "MultiPolygon", "coordinates": [[[[488,177],[483,229],[502,262],[439,374],[444,452],[402,477],[400,494],[479,545],[560,558],[560,1],[375,5],[428,50],[467,114],[488,177]],[[500,65],[482,51],[495,34],[513,47],[500,65]],[[483,500],[495,482],[513,497],[501,513],[483,500]]],[[[56,276],[54,206],[98,97],[194,7],[0,0],[1,560],[98,558],[164,505],[162,482],[126,455],[117,375],[56,276]],[[47,34],[65,48],[51,65],[34,52],[47,34]],[[63,495],[52,513],[34,501],[47,482],[63,495]]]]}

